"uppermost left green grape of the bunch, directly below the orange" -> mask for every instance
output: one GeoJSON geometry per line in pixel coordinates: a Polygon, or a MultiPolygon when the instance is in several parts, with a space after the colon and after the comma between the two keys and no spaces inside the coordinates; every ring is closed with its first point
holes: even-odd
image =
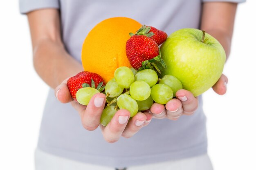
{"type": "Polygon", "coordinates": [[[134,75],[130,68],[123,66],[116,69],[114,73],[115,81],[121,88],[129,88],[134,82],[134,75]]]}

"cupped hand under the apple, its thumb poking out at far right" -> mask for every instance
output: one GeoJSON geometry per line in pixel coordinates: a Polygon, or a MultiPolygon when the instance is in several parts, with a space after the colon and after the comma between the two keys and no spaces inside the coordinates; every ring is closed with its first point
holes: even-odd
{"type": "MultiPolygon", "coordinates": [[[[218,82],[214,84],[213,91],[224,95],[227,91],[227,77],[222,74],[218,82]]],[[[176,92],[176,98],[170,100],[166,105],[154,103],[150,108],[154,118],[177,120],[181,115],[192,115],[198,108],[198,98],[187,90],[176,92]]]]}

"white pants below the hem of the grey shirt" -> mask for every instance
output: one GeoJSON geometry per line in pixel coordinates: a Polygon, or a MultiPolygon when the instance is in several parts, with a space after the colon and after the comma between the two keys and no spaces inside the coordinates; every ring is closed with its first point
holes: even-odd
{"type": "MultiPolygon", "coordinates": [[[[35,165],[36,170],[115,170],[114,167],[97,166],[51,155],[38,148],[35,151],[35,165]]],[[[213,167],[206,154],[176,161],[131,166],[127,170],[213,170],[213,167]]]]}

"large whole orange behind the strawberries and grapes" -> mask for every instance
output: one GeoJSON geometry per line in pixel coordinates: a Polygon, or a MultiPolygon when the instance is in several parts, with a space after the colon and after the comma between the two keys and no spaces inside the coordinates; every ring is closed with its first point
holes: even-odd
{"type": "Polygon", "coordinates": [[[97,24],[83,42],[82,64],[85,71],[99,74],[107,83],[120,66],[130,66],[126,57],[129,33],[141,24],[125,17],[108,18],[97,24]]]}

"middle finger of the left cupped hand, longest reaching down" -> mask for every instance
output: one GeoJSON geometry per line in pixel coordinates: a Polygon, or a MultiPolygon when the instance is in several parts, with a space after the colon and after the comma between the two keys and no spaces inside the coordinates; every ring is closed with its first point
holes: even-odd
{"type": "Polygon", "coordinates": [[[114,143],[121,137],[130,117],[130,112],[125,109],[118,110],[105,128],[102,128],[104,139],[114,143]]]}

